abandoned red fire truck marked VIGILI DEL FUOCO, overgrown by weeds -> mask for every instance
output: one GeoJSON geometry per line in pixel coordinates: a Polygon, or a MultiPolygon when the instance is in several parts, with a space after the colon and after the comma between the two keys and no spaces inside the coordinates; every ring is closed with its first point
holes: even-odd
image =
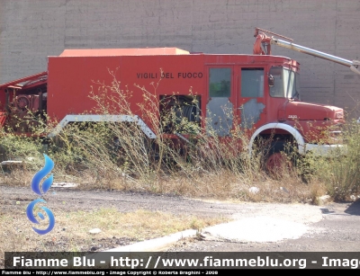
{"type": "Polygon", "coordinates": [[[211,128],[220,138],[231,137],[231,129],[237,124],[248,134],[245,146],[249,154],[259,138],[276,143],[267,158],[269,166],[282,158],[280,152],[286,141],[293,141],[300,155],[308,151],[327,155],[332,148],[341,147],[337,136],[344,123],[343,109],[302,102],[299,63],[272,56],[270,46],[326,58],[356,73],[360,63],[268,37],[265,32],[256,29],[253,55],[190,53],[176,48],[65,49],[59,56],[49,57],[46,72],[0,85],[0,126],[31,135],[33,123],[25,120],[19,124],[19,119],[27,118],[30,112],[46,113],[48,123],[58,122],[46,134],[48,138],[71,122],[129,121],[138,124],[150,139],[167,135],[186,141],[186,132],[174,133],[171,128],[161,134],[154,132],[155,126],[139,109],[144,98],[134,87],[137,84],[147,87],[157,98],[157,116],[176,105],[181,110],[179,119],[193,121],[204,131],[211,128]],[[112,84],[109,71],[115,72],[122,87],[133,91],[130,113],[89,112],[94,110],[94,100],[89,98],[91,87],[97,81],[112,84]],[[157,89],[151,90],[150,83],[159,80],[157,89]],[[190,88],[193,93],[189,93],[190,88]],[[333,139],[324,142],[328,130],[333,139]]]}

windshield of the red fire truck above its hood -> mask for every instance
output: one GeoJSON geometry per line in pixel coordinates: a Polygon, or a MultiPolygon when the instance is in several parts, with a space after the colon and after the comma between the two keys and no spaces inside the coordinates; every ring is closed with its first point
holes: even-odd
{"type": "Polygon", "coordinates": [[[270,87],[270,95],[276,98],[300,100],[299,74],[284,67],[271,67],[269,74],[275,84],[270,87]]]}

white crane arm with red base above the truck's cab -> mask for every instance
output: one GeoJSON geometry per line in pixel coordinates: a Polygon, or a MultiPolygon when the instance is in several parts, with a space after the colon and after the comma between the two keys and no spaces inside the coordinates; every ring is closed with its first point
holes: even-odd
{"type": "Polygon", "coordinates": [[[279,40],[279,39],[275,39],[274,37],[269,37],[267,36],[264,32],[259,33],[259,31],[266,31],[266,30],[262,30],[259,28],[255,29],[255,37],[257,38],[257,40],[254,43],[254,55],[271,55],[271,44],[275,44],[287,49],[293,49],[299,52],[302,52],[304,54],[308,54],[317,58],[323,58],[323,59],[327,59],[333,62],[336,62],[338,64],[341,64],[343,66],[346,67],[350,67],[350,70],[359,74],[360,75],[360,70],[358,69],[358,67],[360,66],[360,61],[359,60],[348,60],[345,58],[338,58],[336,56],[333,55],[329,55],[327,53],[321,52],[319,50],[316,49],[310,49],[310,48],[306,48],[303,47],[301,45],[297,45],[294,44],[289,38],[286,38],[284,36],[275,34],[274,32],[271,31],[266,31],[268,33],[274,34],[278,37],[283,37],[286,40],[291,40],[291,41],[286,41],[286,40],[279,40]]]}

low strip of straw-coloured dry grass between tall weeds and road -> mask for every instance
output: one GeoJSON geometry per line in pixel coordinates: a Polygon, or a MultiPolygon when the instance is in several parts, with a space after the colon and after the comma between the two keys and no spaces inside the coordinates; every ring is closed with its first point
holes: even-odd
{"type": "MultiPolygon", "coordinates": [[[[120,191],[150,191],[153,193],[172,194],[189,198],[262,201],[262,202],[307,202],[315,203],[316,197],[326,194],[327,185],[317,179],[303,183],[295,172],[278,172],[271,176],[259,172],[256,179],[250,180],[244,175],[233,174],[223,169],[218,172],[185,175],[184,173],[162,175],[151,182],[120,177],[111,183],[99,184],[94,172],[86,170],[77,176],[55,174],[54,182],[78,183],[80,190],[120,190],[120,191]],[[82,177],[82,175],[85,175],[82,177]],[[87,176],[87,177],[86,177],[87,176]],[[257,187],[257,192],[250,191],[257,187]]],[[[25,171],[21,174],[15,170],[3,177],[3,183],[12,186],[30,187],[33,174],[25,171]]]]}

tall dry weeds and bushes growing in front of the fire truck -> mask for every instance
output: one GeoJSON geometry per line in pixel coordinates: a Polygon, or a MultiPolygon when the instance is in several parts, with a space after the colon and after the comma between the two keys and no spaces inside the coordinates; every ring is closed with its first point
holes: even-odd
{"type": "MultiPolygon", "coordinates": [[[[26,169],[33,174],[43,165],[42,153],[46,152],[55,161],[55,181],[76,182],[80,189],[313,202],[325,192],[336,200],[347,199],[359,192],[360,136],[356,123],[349,124],[344,134],[347,156],[331,159],[307,156],[297,168],[283,166],[274,178],[262,169],[262,148],[258,148],[258,154],[248,156],[248,137],[231,111],[231,135],[219,138],[219,129],[211,129],[211,119],[204,118],[204,114],[193,114],[198,116],[197,120],[189,121],[186,116],[181,116],[182,110],[176,105],[160,110],[159,107],[166,104],[166,99],[157,95],[161,80],[147,87],[135,84],[131,89],[121,85],[116,79],[116,71],[109,73],[111,84],[94,82],[90,87],[89,97],[94,101],[94,109],[87,113],[128,115],[131,118],[140,115],[157,138],[148,138],[136,120],[76,122],[68,124],[47,147],[40,139],[20,138],[10,132],[3,134],[3,159],[27,160],[26,169]],[[131,101],[133,93],[141,93],[142,100],[131,101]],[[307,175],[307,183],[302,181],[301,174],[307,175]],[[259,191],[249,190],[252,186],[259,191]]],[[[173,92],[168,97],[176,98],[177,95],[178,92],[173,92]]],[[[197,104],[198,97],[191,88],[186,96],[192,99],[188,104],[197,104]]],[[[14,184],[13,174],[4,177],[3,182],[14,184]]],[[[25,183],[30,182],[31,174],[25,183]]]]}

